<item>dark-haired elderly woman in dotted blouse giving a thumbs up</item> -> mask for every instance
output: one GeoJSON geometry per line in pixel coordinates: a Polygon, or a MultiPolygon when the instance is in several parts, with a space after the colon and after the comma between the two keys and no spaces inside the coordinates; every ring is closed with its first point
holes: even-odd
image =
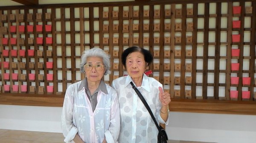
{"type": "Polygon", "coordinates": [[[158,129],[148,110],[132,88],[132,81],[145,98],[157,123],[168,124],[170,94],[163,92],[163,85],[145,75],[153,60],[148,50],[130,47],[122,53],[122,64],[128,76],[113,80],[112,87],[119,98],[121,129],[119,143],[157,143],[158,129]]]}

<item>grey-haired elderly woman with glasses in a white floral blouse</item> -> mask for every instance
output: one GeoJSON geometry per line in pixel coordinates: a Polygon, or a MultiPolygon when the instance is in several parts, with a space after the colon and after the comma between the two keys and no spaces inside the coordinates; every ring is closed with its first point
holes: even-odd
{"type": "Polygon", "coordinates": [[[100,48],[81,56],[85,79],[71,84],[64,98],[61,124],[66,143],[118,143],[119,102],[102,77],[110,73],[110,58],[100,48]]]}

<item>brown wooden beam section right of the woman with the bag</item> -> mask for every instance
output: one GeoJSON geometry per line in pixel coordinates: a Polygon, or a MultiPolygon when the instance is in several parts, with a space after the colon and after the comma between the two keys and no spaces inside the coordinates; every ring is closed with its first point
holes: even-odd
{"type": "Polygon", "coordinates": [[[256,102],[172,99],[169,109],[173,112],[256,115],[256,102]]]}

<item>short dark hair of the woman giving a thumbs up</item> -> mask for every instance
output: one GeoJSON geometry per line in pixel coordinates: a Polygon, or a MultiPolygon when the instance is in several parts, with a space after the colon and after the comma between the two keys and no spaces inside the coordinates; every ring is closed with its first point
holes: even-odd
{"type": "Polygon", "coordinates": [[[153,61],[153,56],[152,54],[149,52],[149,50],[146,50],[146,49],[143,49],[143,48],[140,48],[140,47],[129,47],[127,49],[125,49],[122,53],[122,64],[125,66],[126,68],[126,58],[127,56],[130,54],[130,53],[133,53],[133,52],[140,52],[143,54],[144,56],[144,60],[146,63],[150,64],[152,61],[153,61]]]}

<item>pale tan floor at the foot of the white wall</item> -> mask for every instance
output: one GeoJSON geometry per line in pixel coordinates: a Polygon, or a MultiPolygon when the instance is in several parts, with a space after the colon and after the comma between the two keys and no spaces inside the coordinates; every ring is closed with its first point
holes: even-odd
{"type": "MultiPolygon", "coordinates": [[[[0,143],[64,143],[62,133],[0,129],[0,143]]],[[[205,143],[169,140],[168,143],[205,143]]]]}

